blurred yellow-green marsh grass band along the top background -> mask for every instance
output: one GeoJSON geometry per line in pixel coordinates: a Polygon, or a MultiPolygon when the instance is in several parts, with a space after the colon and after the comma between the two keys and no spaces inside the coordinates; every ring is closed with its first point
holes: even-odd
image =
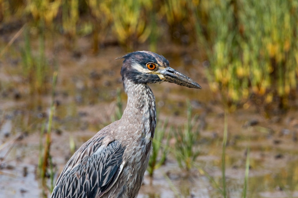
{"type": "MultiPolygon", "coordinates": [[[[39,60],[47,35],[57,33],[72,50],[78,37],[90,35],[94,53],[111,40],[127,52],[142,43],[153,51],[169,41],[195,46],[211,90],[230,107],[286,108],[297,96],[297,7],[297,0],[0,0],[0,31],[26,24],[41,38],[39,60]]],[[[30,73],[30,43],[25,48],[30,73]]],[[[42,87],[43,79],[36,81],[42,87]]]]}

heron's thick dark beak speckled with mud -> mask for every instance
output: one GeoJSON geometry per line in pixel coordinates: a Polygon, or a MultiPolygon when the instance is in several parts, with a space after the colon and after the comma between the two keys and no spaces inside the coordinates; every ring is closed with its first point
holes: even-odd
{"type": "Polygon", "coordinates": [[[181,72],[178,72],[176,69],[173,69],[171,67],[166,67],[165,69],[158,71],[159,77],[166,82],[170,83],[176,83],[177,85],[182,85],[190,88],[197,88],[201,89],[202,87],[196,83],[193,79],[188,77],[185,74],[182,74],[181,72]]]}

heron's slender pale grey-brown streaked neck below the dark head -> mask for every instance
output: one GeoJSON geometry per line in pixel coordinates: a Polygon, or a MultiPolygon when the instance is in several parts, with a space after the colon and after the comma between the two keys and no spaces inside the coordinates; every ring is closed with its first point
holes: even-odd
{"type": "Polygon", "coordinates": [[[156,127],[155,97],[147,84],[136,84],[131,80],[124,81],[124,89],[127,93],[127,106],[121,120],[129,122],[136,127],[146,142],[153,137],[156,127]],[[144,136],[145,135],[145,136],[144,136]],[[149,138],[149,139],[150,139],[149,138]]]}

